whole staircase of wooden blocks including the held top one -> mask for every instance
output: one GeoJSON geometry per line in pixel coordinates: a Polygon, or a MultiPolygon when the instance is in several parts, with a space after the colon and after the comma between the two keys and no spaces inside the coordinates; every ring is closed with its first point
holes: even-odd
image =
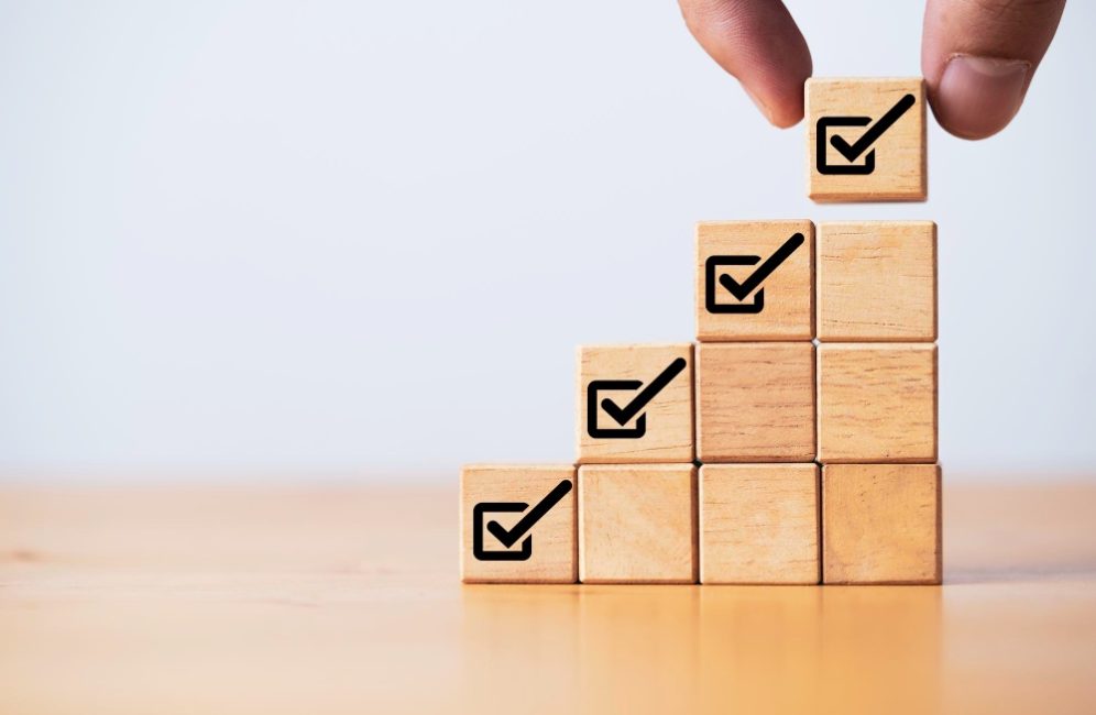
{"type": "MultiPolygon", "coordinates": [[[[811,198],[924,200],[920,79],[807,111],[811,198]]],[[[464,468],[463,580],[940,583],[935,224],[704,222],[695,273],[697,344],[580,348],[577,466],[464,468]]]]}

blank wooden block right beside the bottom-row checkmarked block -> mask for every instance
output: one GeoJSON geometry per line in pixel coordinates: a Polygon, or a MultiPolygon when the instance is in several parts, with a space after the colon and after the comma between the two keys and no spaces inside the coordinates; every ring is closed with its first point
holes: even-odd
{"type": "Polygon", "coordinates": [[[582,583],[695,583],[697,468],[579,468],[582,583]]]}

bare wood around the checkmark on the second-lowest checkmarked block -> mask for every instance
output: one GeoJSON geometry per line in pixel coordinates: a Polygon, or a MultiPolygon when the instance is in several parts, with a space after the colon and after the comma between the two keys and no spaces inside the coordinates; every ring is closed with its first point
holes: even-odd
{"type": "Polygon", "coordinates": [[[578,351],[578,439],[579,463],[660,463],[693,461],[693,346],[682,344],[583,345],[578,351]],[[609,398],[624,407],[675,360],[687,366],[624,426],[602,408],[595,410],[595,425],[605,429],[635,430],[645,420],[643,437],[620,439],[593,437],[588,422],[588,391],[594,381],[637,381],[632,389],[599,389],[596,403],[609,398]]]}

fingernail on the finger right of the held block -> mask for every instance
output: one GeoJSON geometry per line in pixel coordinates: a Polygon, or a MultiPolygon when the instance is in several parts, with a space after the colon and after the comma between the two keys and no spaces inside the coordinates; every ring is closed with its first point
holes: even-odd
{"type": "Polygon", "coordinates": [[[940,78],[936,118],[958,136],[996,134],[1020,111],[1029,72],[1022,59],[955,55],[940,78]]]}

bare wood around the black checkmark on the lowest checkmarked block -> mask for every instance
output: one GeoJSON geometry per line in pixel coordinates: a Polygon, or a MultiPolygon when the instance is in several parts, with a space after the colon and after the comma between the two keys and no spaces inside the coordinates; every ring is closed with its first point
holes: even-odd
{"type": "MultiPolygon", "coordinates": [[[[574,583],[578,580],[578,524],[576,469],[566,465],[469,465],[460,473],[460,570],[465,583],[574,583]],[[525,503],[533,507],[560,481],[570,480],[571,491],[529,531],[531,557],[525,561],[480,561],[473,557],[473,518],[476,504],[525,503]]],[[[497,521],[509,529],[522,513],[484,513],[483,524],[497,521]]],[[[491,534],[483,534],[487,551],[520,551],[520,542],[507,549],[491,534]]]]}

